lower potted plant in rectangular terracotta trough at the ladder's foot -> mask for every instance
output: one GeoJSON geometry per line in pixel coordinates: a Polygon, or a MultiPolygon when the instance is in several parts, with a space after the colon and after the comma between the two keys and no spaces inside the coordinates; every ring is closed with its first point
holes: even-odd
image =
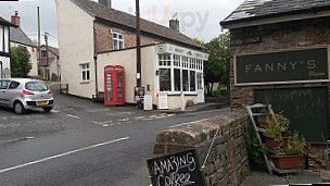
{"type": "Polygon", "coordinates": [[[295,131],[285,145],[275,150],[271,157],[275,166],[280,170],[301,169],[306,146],[305,137],[295,131]]]}

